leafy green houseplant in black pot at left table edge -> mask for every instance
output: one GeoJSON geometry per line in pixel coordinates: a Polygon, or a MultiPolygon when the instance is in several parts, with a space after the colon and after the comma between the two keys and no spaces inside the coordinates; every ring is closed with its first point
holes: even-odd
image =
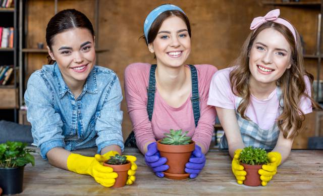
{"type": "Polygon", "coordinates": [[[35,152],[26,149],[27,143],[7,141],[0,144],[0,187],[3,194],[22,192],[25,165],[35,165],[35,159],[30,154],[35,152]]]}

